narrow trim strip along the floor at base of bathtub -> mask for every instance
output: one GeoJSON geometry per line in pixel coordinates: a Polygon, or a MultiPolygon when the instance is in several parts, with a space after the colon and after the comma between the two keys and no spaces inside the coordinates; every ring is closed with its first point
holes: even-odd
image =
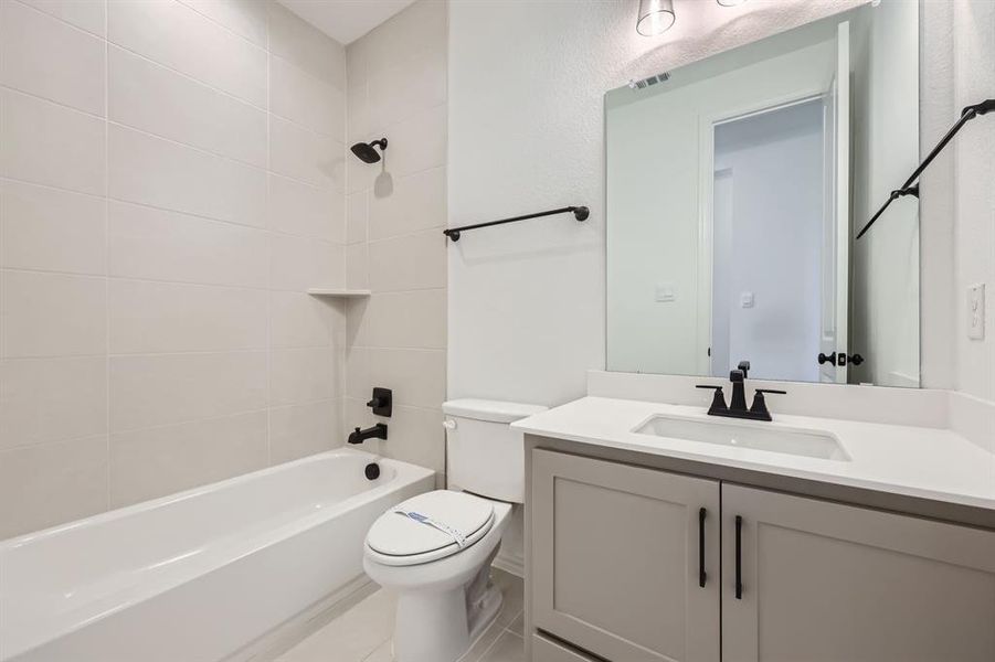
{"type": "Polygon", "coordinates": [[[379,587],[360,575],[297,616],[284,621],[222,662],[273,662],[299,642],[371,596],[379,587]]]}

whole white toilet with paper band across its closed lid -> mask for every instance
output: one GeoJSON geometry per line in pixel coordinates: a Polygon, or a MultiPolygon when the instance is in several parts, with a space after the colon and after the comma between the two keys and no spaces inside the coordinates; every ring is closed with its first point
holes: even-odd
{"type": "Polygon", "coordinates": [[[509,424],[543,410],[483,399],[443,404],[454,490],[409,499],[370,527],[363,567],[398,594],[396,662],[455,662],[500,610],[490,563],[512,504],[525,496],[522,437],[509,424]]]}

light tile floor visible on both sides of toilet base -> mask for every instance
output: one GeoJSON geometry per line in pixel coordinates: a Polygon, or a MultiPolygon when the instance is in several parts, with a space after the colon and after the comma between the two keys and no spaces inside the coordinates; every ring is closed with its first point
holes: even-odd
{"type": "MultiPolygon", "coordinates": [[[[493,570],[501,611],[461,662],[523,662],[522,581],[493,570]]],[[[394,597],[377,590],[282,654],[276,662],[391,662],[394,597]]]]}

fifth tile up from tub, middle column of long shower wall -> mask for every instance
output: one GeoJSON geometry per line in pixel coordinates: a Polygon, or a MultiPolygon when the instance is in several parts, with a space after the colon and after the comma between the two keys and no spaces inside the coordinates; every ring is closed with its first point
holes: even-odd
{"type": "Polygon", "coordinates": [[[169,140],[110,125],[112,197],[262,227],[266,173],[169,140]]]}

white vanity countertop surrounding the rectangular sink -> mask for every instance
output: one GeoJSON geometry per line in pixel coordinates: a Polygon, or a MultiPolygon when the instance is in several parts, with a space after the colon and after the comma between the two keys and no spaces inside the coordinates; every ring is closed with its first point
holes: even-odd
{"type": "MultiPolygon", "coordinates": [[[[697,406],[583,397],[514,423],[530,435],[995,510],[995,453],[949,429],[773,414],[737,425],[834,435],[849,461],[636,434],[656,415],[717,421],[697,406]]],[[[719,419],[730,421],[731,419],[719,419]]]]}

